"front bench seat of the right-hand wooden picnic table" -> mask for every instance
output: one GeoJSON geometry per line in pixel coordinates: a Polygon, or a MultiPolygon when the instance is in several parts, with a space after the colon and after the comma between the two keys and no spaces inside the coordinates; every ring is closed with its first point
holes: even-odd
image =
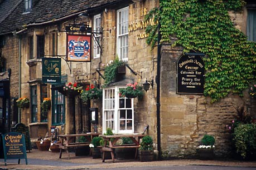
{"type": "Polygon", "coordinates": [[[122,145],[113,145],[113,146],[109,146],[109,147],[102,147],[102,152],[103,152],[102,162],[105,161],[105,152],[111,152],[112,161],[115,162],[114,151],[113,151],[113,149],[115,149],[115,148],[136,148],[134,159],[137,159],[139,146],[136,144],[122,144],[122,145]]]}

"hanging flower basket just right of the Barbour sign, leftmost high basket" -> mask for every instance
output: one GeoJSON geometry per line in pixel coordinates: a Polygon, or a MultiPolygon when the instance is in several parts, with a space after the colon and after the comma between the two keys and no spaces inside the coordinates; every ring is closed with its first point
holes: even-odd
{"type": "Polygon", "coordinates": [[[81,93],[82,87],[77,83],[68,83],[63,89],[60,91],[64,96],[75,97],[81,93]]]}

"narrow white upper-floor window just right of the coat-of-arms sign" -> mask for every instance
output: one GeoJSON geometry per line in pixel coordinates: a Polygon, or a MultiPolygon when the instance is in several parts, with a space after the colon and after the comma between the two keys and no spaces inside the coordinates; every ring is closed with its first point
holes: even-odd
{"type": "MultiPolygon", "coordinates": [[[[100,29],[102,27],[101,23],[101,17],[100,14],[97,14],[93,17],[93,31],[94,32],[100,32],[100,29]]],[[[100,33],[94,33],[93,36],[94,42],[93,42],[93,58],[99,58],[100,57],[100,33]],[[96,41],[97,39],[97,41],[96,41]]]]}

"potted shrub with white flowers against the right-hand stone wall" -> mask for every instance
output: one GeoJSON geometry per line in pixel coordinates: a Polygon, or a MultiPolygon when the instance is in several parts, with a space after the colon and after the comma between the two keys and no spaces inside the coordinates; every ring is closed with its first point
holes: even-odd
{"type": "Polygon", "coordinates": [[[214,158],[214,143],[215,139],[213,136],[205,134],[204,137],[202,137],[198,149],[201,160],[212,160],[214,158]]]}

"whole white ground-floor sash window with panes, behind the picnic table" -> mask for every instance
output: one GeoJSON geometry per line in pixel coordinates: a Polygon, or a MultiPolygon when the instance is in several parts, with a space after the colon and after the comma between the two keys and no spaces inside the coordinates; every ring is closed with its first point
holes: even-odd
{"type": "Polygon", "coordinates": [[[119,88],[122,87],[103,91],[103,132],[111,128],[114,133],[133,133],[133,98],[120,97],[119,88]]]}

